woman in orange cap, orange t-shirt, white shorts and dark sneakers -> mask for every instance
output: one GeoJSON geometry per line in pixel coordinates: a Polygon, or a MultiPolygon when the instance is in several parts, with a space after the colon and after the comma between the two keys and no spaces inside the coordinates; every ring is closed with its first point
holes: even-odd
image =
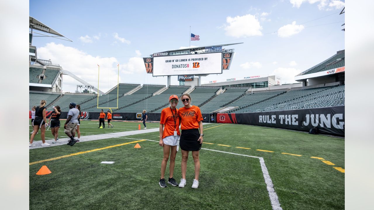
{"type": "Polygon", "coordinates": [[[163,159],[161,162],[161,177],[159,185],[162,188],[166,187],[165,182],[165,169],[166,164],[168,163],[169,154],[170,154],[170,164],[169,164],[169,179],[168,183],[177,186],[178,183],[173,177],[174,166],[175,166],[175,155],[177,155],[177,147],[180,139],[179,132],[179,117],[178,109],[178,96],[171,95],[169,97],[170,106],[164,108],[161,111],[161,120],[160,120],[160,142],[159,145],[163,146],[163,159]],[[164,129],[165,126],[165,129],[164,129]]]}

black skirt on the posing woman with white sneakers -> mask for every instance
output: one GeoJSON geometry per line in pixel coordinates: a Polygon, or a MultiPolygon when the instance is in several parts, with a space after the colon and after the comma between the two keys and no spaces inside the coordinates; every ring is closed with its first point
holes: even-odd
{"type": "Polygon", "coordinates": [[[199,129],[182,130],[179,146],[184,151],[199,151],[202,145],[202,143],[197,141],[199,138],[199,129]]]}

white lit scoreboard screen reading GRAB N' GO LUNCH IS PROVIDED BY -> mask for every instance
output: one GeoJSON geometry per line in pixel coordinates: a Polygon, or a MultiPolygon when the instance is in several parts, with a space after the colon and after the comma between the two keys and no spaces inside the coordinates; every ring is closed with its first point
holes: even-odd
{"type": "Polygon", "coordinates": [[[222,53],[153,57],[153,76],[222,74],[222,53]]]}

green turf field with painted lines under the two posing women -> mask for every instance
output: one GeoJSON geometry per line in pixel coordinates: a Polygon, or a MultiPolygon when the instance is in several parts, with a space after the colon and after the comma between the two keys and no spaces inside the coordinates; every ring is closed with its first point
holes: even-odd
{"type": "MultiPolygon", "coordinates": [[[[95,135],[126,131],[119,129],[137,130],[141,123],[113,124],[113,129],[97,129],[98,122],[83,121],[81,132],[95,135]]],[[[157,123],[147,125],[148,129],[157,127],[157,123]]],[[[30,209],[271,210],[259,159],[236,154],[264,158],[282,209],[344,209],[344,173],[333,168],[344,169],[344,139],[238,124],[206,124],[204,128],[198,189],[191,188],[192,157],[188,159],[185,188],[169,184],[167,188],[160,188],[163,154],[157,143],[158,132],[30,149],[30,163],[68,155],[30,165],[30,209]],[[129,142],[138,139],[147,140],[137,142],[141,148],[135,149],[135,143],[129,142]],[[123,143],[129,144],[117,146],[123,143]],[[116,146],[91,151],[112,145],[116,146]],[[83,151],[89,152],[75,155],[83,151]],[[101,161],[115,163],[100,164],[101,161]],[[52,173],[36,175],[43,165],[52,173]]],[[[63,129],[60,134],[65,137],[63,129]]],[[[38,135],[36,140],[40,140],[40,132],[38,135]]],[[[180,163],[178,152],[174,171],[178,182],[180,163]]],[[[168,174],[167,166],[166,178],[168,174]]]]}

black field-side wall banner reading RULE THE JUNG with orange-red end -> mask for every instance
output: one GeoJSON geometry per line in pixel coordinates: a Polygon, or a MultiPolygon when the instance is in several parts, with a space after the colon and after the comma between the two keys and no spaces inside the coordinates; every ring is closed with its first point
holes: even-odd
{"type": "Polygon", "coordinates": [[[344,106],[272,112],[217,114],[217,123],[237,123],[344,136],[344,106]]]}

